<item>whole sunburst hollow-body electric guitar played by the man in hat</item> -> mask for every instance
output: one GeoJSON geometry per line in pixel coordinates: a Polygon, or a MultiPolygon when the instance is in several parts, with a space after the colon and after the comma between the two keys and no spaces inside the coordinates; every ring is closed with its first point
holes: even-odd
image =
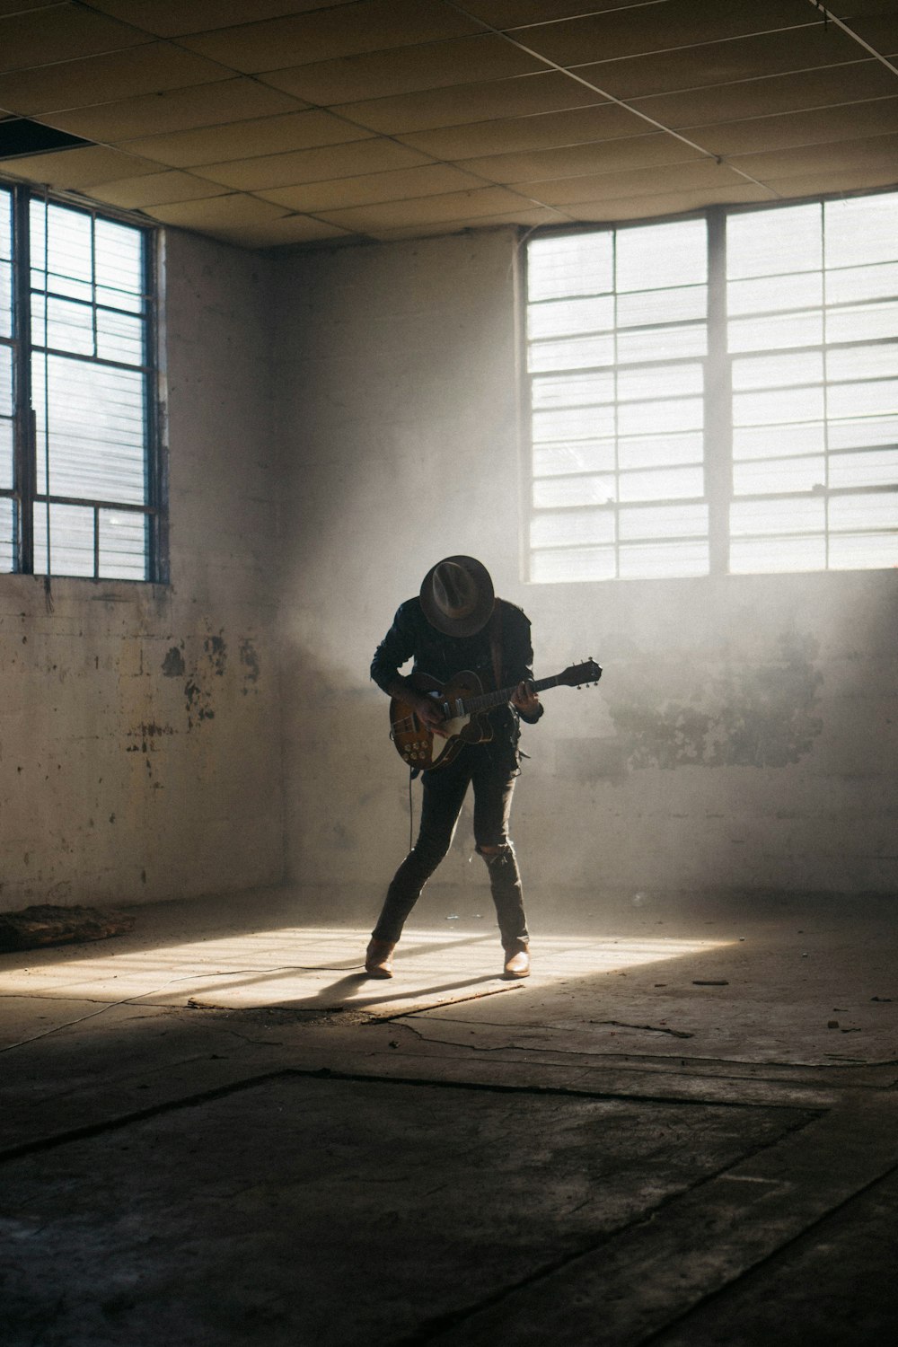
{"type": "MultiPolygon", "coordinates": [[[[598,683],[602,668],[595,660],[571,664],[563,674],[544,678],[533,683],[534,692],[547,687],[583,687],[598,683]]],[[[483,686],[470,669],[455,674],[448,683],[440,683],[429,674],[412,674],[408,680],[412,687],[432,696],[443,717],[442,734],[424,725],[408,703],[394,696],[390,700],[390,738],[404,762],[419,772],[432,772],[446,766],[462,750],[464,744],[483,744],[493,738],[493,727],[485,713],[494,706],[510,702],[514,687],[499,688],[498,692],[485,692],[483,686]]]]}

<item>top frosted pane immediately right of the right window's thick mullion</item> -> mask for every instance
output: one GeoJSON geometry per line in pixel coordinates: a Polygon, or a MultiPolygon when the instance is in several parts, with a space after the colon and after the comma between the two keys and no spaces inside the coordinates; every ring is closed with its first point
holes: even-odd
{"type": "Polygon", "coordinates": [[[820,269],[819,203],[746,211],[727,220],[727,276],[774,276],[820,269]]]}

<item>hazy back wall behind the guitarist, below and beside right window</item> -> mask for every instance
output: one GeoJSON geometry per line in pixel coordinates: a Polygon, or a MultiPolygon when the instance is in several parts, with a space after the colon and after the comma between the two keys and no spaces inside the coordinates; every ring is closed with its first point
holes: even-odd
{"type": "MultiPolygon", "coordinates": [[[[368,665],[460,551],[532,617],[537,675],[606,671],[525,731],[530,889],[898,886],[898,572],[524,586],[513,233],[276,269],[293,878],[380,896],[404,854],[407,773],[368,665]]],[[[469,851],[466,815],[442,881],[482,882],[469,851]]]]}

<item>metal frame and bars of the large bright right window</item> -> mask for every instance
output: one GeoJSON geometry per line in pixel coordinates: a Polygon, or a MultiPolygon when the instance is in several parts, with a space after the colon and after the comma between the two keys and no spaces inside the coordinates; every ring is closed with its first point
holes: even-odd
{"type": "MultiPolygon", "coordinates": [[[[719,578],[722,575],[789,575],[789,574],[833,574],[836,571],[876,571],[889,570],[891,563],[883,566],[831,566],[829,564],[829,547],[831,547],[831,528],[827,517],[825,529],[823,533],[824,548],[827,564],[820,567],[806,567],[806,568],[769,568],[769,570],[742,570],[731,568],[731,543],[734,540],[734,532],[731,528],[731,506],[736,502],[751,502],[751,501],[769,501],[774,498],[781,500],[806,500],[813,496],[813,492],[782,492],[782,493],[739,493],[734,490],[734,389],[732,389],[732,365],[735,360],[746,358],[747,354],[740,350],[730,350],[728,348],[728,314],[727,314],[727,221],[736,216],[757,214],[759,211],[775,211],[790,209],[804,205],[820,205],[821,209],[827,202],[841,202],[845,199],[855,198],[875,198],[882,195],[897,195],[898,189],[895,186],[886,186],[874,190],[860,190],[852,193],[831,193],[831,194],[817,194],[805,198],[788,198],[777,202],[747,202],[739,205],[710,205],[705,207],[696,207],[693,210],[681,211],[676,214],[665,216],[652,216],[652,217],[638,217],[635,220],[622,220],[622,221],[607,221],[600,225],[595,224],[572,224],[560,226],[547,226],[530,230],[521,230],[520,236],[520,253],[522,255],[521,261],[521,296],[522,303],[520,306],[520,350],[521,350],[521,427],[522,427],[522,454],[524,454],[524,473],[522,473],[522,564],[524,564],[524,578],[528,583],[533,585],[557,585],[557,583],[610,583],[622,581],[649,581],[654,582],[658,579],[664,581],[689,581],[719,578]],[[529,299],[529,277],[528,277],[528,259],[529,251],[528,244],[534,240],[541,238],[557,238],[567,236],[583,236],[583,234],[598,234],[598,233],[611,233],[629,229],[640,229],[654,225],[665,224],[680,224],[691,220],[703,220],[707,226],[707,313],[705,313],[705,327],[707,327],[707,350],[704,356],[688,357],[689,361],[696,361],[701,364],[704,369],[704,453],[703,453],[703,471],[704,471],[704,496],[703,502],[707,505],[708,511],[708,567],[707,571],[700,574],[670,574],[670,575],[622,575],[619,558],[621,558],[621,533],[615,525],[615,540],[614,540],[614,556],[615,556],[615,574],[607,577],[578,577],[576,574],[568,575],[547,575],[534,577],[534,554],[540,551],[539,544],[533,541],[533,521],[540,513],[540,508],[534,505],[534,484],[543,480],[534,465],[534,436],[533,436],[533,414],[534,403],[532,395],[532,381],[536,377],[544,377],[547,370],[533,370],[529,366],[529,346],[530,335],[528,331],[528,308],[530,304],[529,299]]],[[[895,260],[898,261],[898,242],[895,245],[895,260]]],[[[825,261],[821,263],[821,273],[824,276],[825,286],[825,261]]],[[[614,291],[617,295],[617,288],[614,291]]],[[[828,311],[825,299],[821,306],[821,314],[828,311]]],[[[613,329],[615,335],[618,329],[613,329]]],[[[894,341],[895,338],[875,338],[871,337],[864,341],[864,346],[875,346],[886,341],[894,341]]],[[[828,348],[837,348],[839,342],[827,342],[825,334],[824,339],[819,343],[806,343],[805,346],[796,346],[794,352],[801,353],[805,350],[820,350],[824,354],[828,348]]],[[[841,343],[844,345],[844,343],[841,343]]],[[[792,352],[793,348],[789,348],[792,352]]],[[[761,353],[757,353],[761,354],[761,353]]],[[[621,369],[642,368],[649,369],[652,365],[664,365],[662,361],[649,361],[644,365],[633,365],[615,362],[607,366],[584,366],[583,373],[588,370],[600,369],[602,372],[609,370],[611,374],[617,374],[621,369]]],[[[829,380],[824,372],[821,389],[825,392],[829,387],[829,380]]],[[[615,401],[617,405],[617,401],[615,401]]],[[[828,427],[829,422],[824,419],[824,427],[828,427]]],[[[829,451],[827,450],[827,454],[829,451]]],[[[576,475],[576,474],[575,474],[576,475]]],[[[898,489],[898,481],[889,485],[874,485],[874,486],[841,486],[825,488],[825,500],[833,497],[850,497],[852,494],[863,493],[895,493],[898,489]]],[[[626,505],[618,496],[614,501],[615,517],[619,513],[621,505],[626,505]]],[[[642,502],[640,502],[642,504],[642,502]]],[[[646,505],[665,505],[677,504],[668,497],[645,501],[646,505]]],[[[688,502],[685,502],[688,504],[688,502]]],[[[587,504],[572,504],[568,506],[545,506],[545,509],[587,509],[587,504]]],[[[662,539],[658,539],[662,541],[662,539]]],[[[575,554],[582,546],[576,541],[568,544],[572,554],[575,554]]],[[[564,546],[559,546],[557,551],[563,551],[564,546]]]]}

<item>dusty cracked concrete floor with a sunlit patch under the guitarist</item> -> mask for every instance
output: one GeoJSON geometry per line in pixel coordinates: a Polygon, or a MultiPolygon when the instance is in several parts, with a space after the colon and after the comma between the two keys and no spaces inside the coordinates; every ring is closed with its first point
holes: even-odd
{"type": "Polygon", "coordinates": [[[894,900],[357,900],[0,955],[4,1347],[898,1342],[894,900]]]}

